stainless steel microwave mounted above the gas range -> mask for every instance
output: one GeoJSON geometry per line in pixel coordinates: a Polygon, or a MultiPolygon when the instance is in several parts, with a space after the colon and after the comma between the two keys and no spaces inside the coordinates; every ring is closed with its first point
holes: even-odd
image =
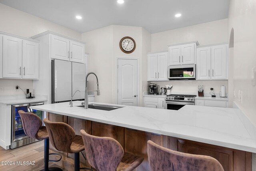
{"type": "Polygon", "coordinates": [[[169,80],[196,80],[196,65],[171,65],[168,66],[169,80]]]}

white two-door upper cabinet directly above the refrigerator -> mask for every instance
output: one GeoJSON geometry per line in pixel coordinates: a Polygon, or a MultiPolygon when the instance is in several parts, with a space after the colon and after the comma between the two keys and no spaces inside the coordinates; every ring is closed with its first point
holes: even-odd
{"type": "Polygon", "coordinates": [[[85,63],[82,42],[51,34],[51,58],[72,62],[85,63]]]}

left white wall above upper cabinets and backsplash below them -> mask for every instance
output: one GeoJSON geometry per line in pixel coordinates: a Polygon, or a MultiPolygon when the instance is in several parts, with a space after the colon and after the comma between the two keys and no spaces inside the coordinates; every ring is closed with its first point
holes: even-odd
{"type": "MultiPolygon", "coordinates": [[[[29,38],[41,32],[50,30],[81,40],[82,34],[58,24],[54,24],[42,18],[16,10],[4,4],[0,4],[0,31],[29,38]]],[[[20,90],[15,91],[14,87],[19,85],[22,89],[32,89],[32,80],[0,79],[0,87],[4,92],[0,95],[21,95],[20,90]]]]}

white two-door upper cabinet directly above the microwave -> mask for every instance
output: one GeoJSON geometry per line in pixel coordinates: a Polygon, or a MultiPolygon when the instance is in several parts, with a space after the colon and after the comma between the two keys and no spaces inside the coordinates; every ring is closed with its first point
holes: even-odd
{"type": "Polygon", "coordinates": [[[169,64],[185,65],[195,64],[195,49],[198,42],[187,42],[182,44],[168,45],[169,64]]]}

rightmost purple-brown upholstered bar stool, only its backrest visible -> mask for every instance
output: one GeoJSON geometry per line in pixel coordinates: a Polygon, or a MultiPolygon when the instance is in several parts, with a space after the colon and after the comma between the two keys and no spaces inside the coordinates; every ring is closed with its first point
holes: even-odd
{"type": "Polygon", "coordinates": [[[213,157],[173,151],[150,140],[148,160],[151,171],[224,171],[213,157]]]}

